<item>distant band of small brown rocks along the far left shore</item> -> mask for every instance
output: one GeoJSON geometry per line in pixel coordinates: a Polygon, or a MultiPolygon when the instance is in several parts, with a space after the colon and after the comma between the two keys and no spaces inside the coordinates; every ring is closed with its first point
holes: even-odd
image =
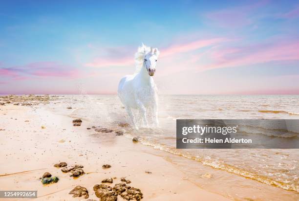
{"type": "Polygon", "coordinates": [[[0,96],[0,105],[21,105],[21,106],[31,106],[38,105],[40,103],[48,104],[51,100],[56,100],[58,96],[50,95],[6,95],[0,96]]]}

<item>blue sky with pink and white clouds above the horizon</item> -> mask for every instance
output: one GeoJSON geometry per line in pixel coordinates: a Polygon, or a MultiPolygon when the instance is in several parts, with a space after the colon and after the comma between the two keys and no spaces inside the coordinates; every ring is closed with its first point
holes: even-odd
{"type": "Polygon", "coordinates": [[[69,13],[54,9],[43,15],[39,3],[22,5],[30,15],[29,8],[5,3],[2,94],[80,93],[79,85],[87,93],[114,94],[119,80],[135,71],[134,53],[142,42],[160,50],[154,80],[162,94],[299,91],[296,2],[173,2],[171,10],[163,2],[153,16],[141,15],[139,3],[130,13],[121,3],[112,6],[120,6],[117,12],[83,4],[77,13],[74,3],[66,5],[69,13]]]}

